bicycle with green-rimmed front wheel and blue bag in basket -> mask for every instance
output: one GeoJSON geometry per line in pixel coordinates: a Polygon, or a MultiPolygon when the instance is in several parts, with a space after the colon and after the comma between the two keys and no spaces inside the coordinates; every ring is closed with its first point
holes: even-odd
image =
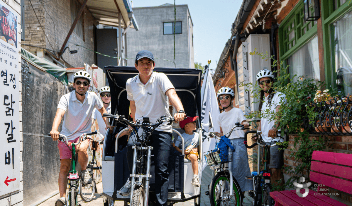
{"type": "MultiPolygon", "coordinates": [[[[230,136],[232,131],[237,127],[241,127],[240,129],[248,129],[245,128],[244,125],[240,125],[240,123],[236,123],[235,125],[236,126],[234,126],[231,131],[227,133],[228,136],[230,136]]],[[[229,141],[226,137],[227,134],[219,138],[215,133],[210,132],[208,134],[208,138],[212,137],[220,140],[220,142],[227,142],[229,141]]],[[[226,143],[226,145],[231,148],[232,146],[229,144],[231,143],[226,143]]],[[[234,149],[228,149],[228,147],[222,147],[203,153],[207,165],[209,165],[210,169],[213,170],[213,178],[210,182],[210,191],[206,192],[206,195],[209,195],[211,206],[219,206],[221,203],[224,206],[242,205],[242,191],[231,171],[234,149]]]]}

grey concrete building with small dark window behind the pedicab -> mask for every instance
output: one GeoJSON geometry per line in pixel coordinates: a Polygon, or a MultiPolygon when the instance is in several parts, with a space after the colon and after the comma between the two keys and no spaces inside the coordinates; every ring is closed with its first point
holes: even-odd
{"type": "MultiPolygon", "coordinates": [[[[174,21],[174,6],[134,7],[133,13],[138,21],[139,31],[130,29],[126,33],[128,57],[135,58],[140,50],[146,49],[151,51],[156,58],[173,61],[174,35],[164,35],[163,22],[174,21]]],[[[181,68],[194,68],[191,36],[193,33],[193,23],[191,20],[189,21],[189,32],[188,18],[190,18],[188,6],[176,5],[176,21],[182,21],[182,34],[175,35],[175,57],[176,67],[181,68]],[[189,61],[190,57],[191,62],[189,61]]],[[[174,63],[161,59],[155,59],[156,67],[174,67],[174,63]]],[[[133,66],[134,59],[128,59],[127,65],[133,66]]]]}

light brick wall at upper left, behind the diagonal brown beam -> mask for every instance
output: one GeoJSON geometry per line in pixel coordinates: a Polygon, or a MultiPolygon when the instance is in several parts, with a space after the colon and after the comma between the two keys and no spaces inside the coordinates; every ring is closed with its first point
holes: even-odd
{"type": "MultiPolygon", "coordinates": [[[[55,54],[58,55],[59,49],[71,28],[71,8],[70,0],[52,0],[44,4],[40,4],[39,0],[32,0],[32,6],[28,0],[25,0],[25,41],[23,44],[32,46],[39,46],[54,50],[55,54]],[[45,38],[43,26],[47,38],[45,38]],[[38,30],[39,28],[39,30],[38,30]]],[[[75,44],[82,45],[86,48],[94,50],[94,34],[93,29],[96,25],[90,11],[84,8],[83,11],[83,29],[84,29],[84,41],[78,37],[75,33],[71,35],[70,42],[67,44],[70,50],[77,50],[78,47],[75,44]]],[[[31,46],[23,46],[23,48],[36,54],[37,51],[43,51],[42,48],[36,48],[31,46]]],[[[85,48],[80,48],[78,53],[70,54],[68,49],[62,55],[62,59],[69,65],[67,67],[83,67],[84,63],[88,65],[94,64],[94,52],[89,51],[85,48]]],[[[62,62],[64,62],[62,61],[62,62]]]]}

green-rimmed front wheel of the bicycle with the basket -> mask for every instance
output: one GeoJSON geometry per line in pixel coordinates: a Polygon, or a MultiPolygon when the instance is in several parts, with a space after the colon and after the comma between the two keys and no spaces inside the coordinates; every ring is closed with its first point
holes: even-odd
{"type": "Polygon", "coordinates": [[[237,180],[233,178],[233,193],[230,196],[230,178],[225,172],[219,172],[210,183],[210,205],[211,206],[241,206],[241,189],[237,180]]]}

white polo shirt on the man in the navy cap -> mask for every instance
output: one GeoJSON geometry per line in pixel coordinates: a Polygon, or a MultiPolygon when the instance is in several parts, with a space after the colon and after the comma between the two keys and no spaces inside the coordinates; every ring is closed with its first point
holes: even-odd
{"type": "MultiPolygon", "coordinates": [[[[170,117],[169,98],[165,94],[170,88],[175,87],[164,73],[152,72],[145,85],[140,81],[139,74],[128,79],[126,82],[127,99],[136,104],[135,119],[139,119],[142,123],[143,117],[149,117],[150,123],[155,124],[163,115],[170,117]]],[[[172,132],[171,125],[166,125],[167,123],[164,122],[156,130],[172,132]]]]}

